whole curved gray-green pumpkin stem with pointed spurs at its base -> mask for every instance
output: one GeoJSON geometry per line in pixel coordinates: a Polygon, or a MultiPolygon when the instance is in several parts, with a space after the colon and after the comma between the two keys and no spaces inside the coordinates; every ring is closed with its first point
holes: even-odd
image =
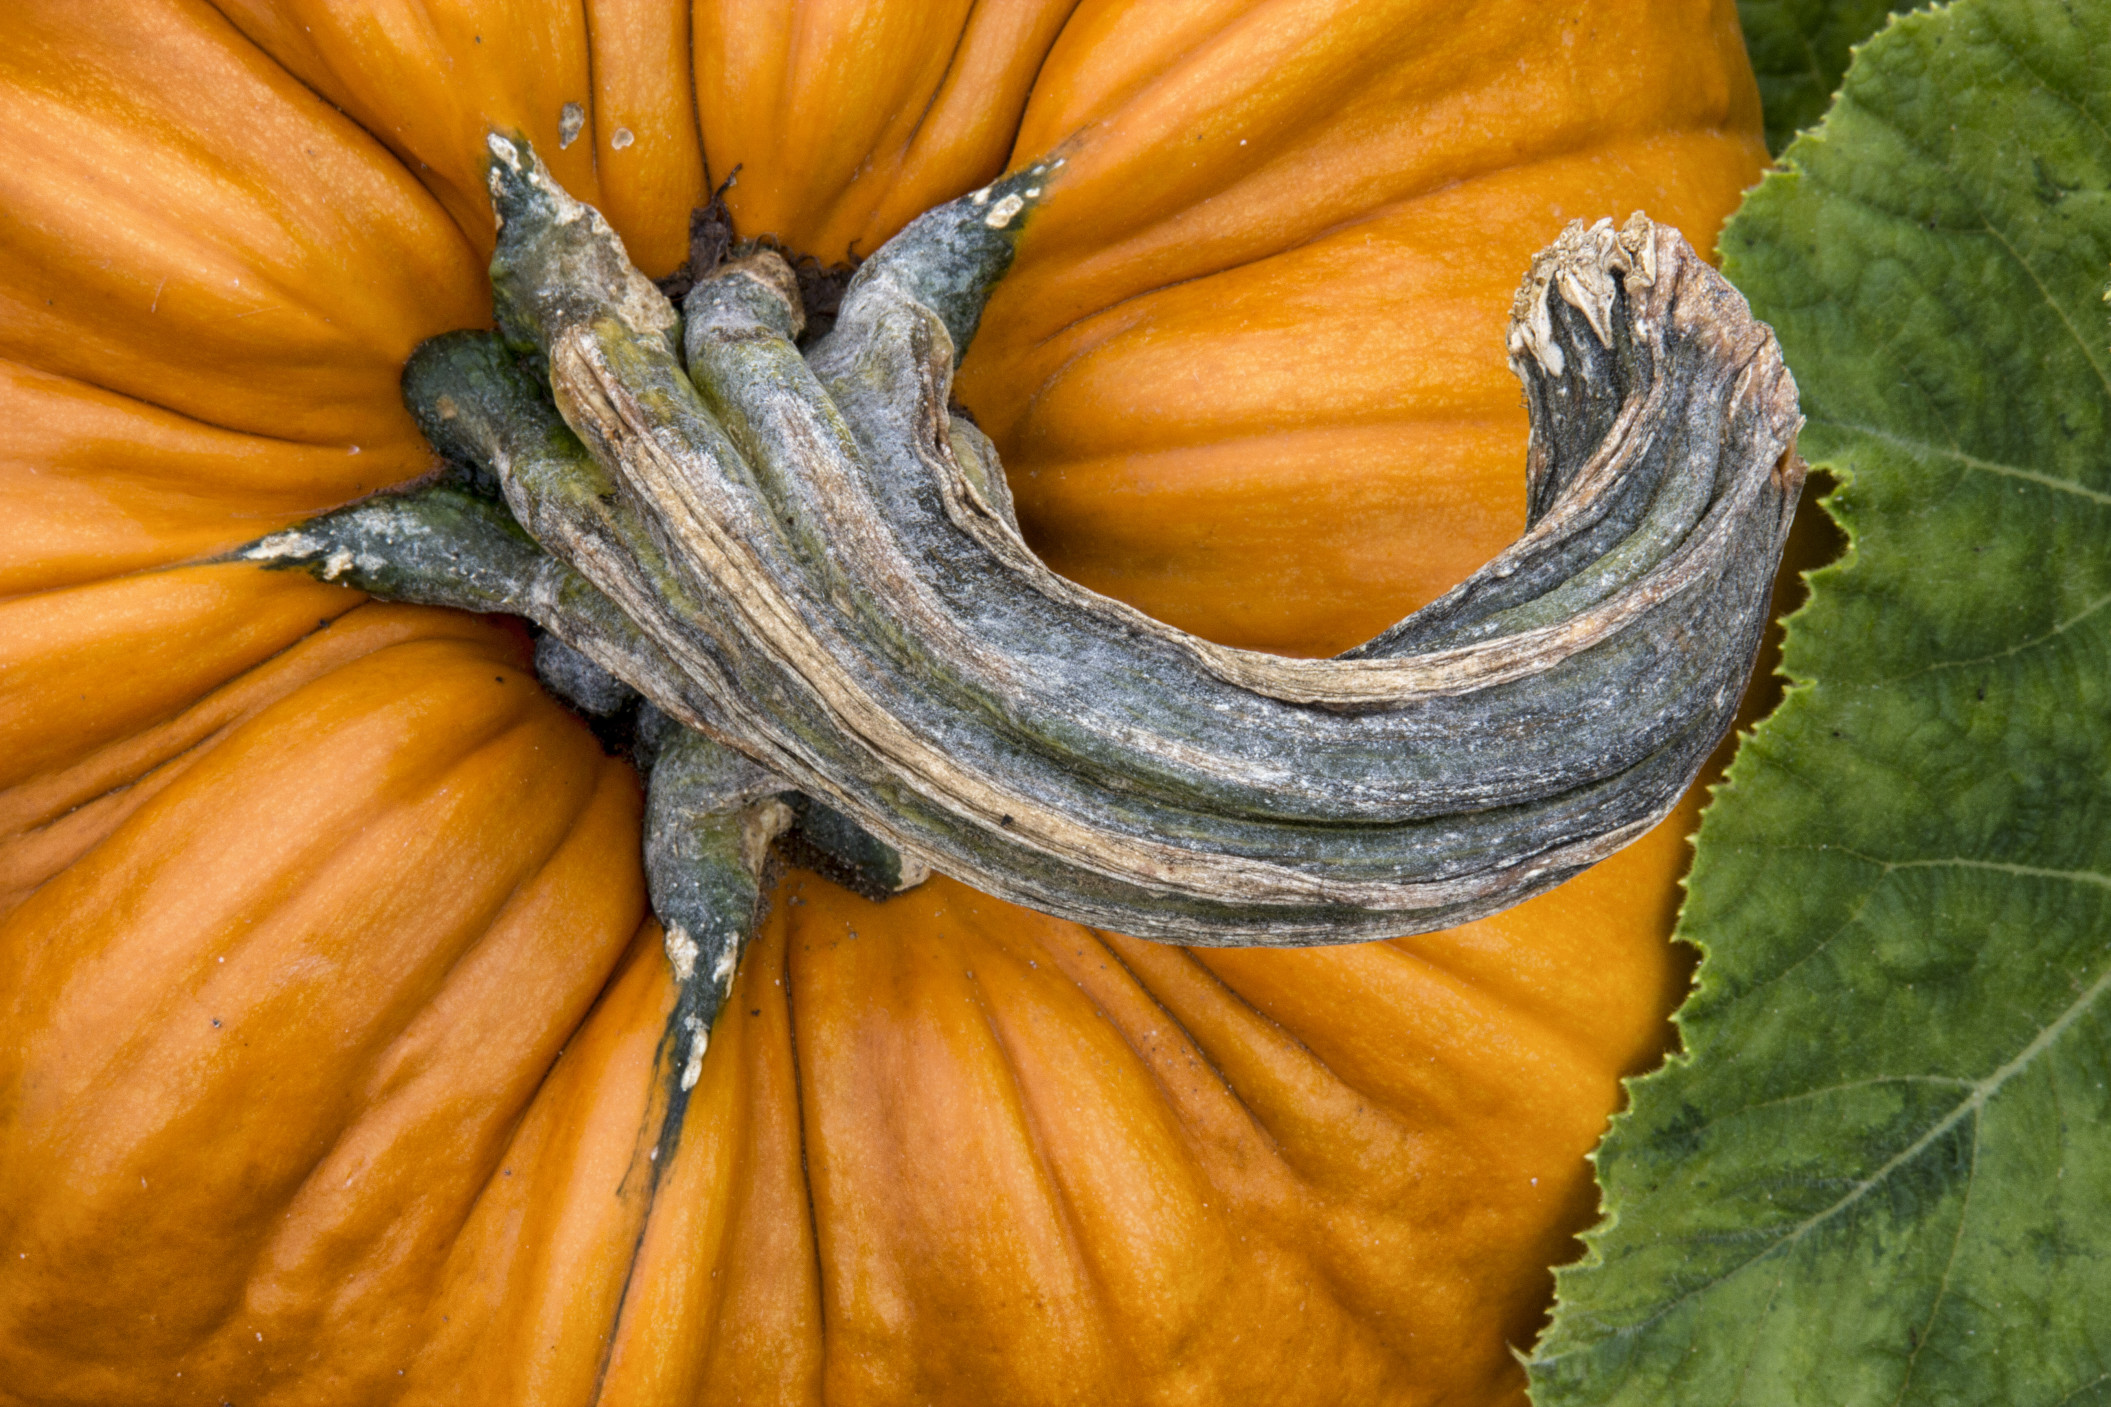
{"type": "Polygon", "coordinates": [[[802,350],[775,253],[697,270],[678,314],[526,143],[492,154],[500,331],[437,338],[403,378],[469,468],[241,555],[530,616],[562,692],[635,690],[686,734],[657,749],[646,861],[684,972],[737,951],[709,934],[752,918],[787,827],[876,892],[929,865],[1153,939],[1440,928],[1647,831],[1733,717],[1801,489],[1796,392],[1773,333],[1642,215],[1571,226],[1518,293],[1524,536],[1300,660],[1049,572],[948,413],[1060,162],[916,219],[802,350]]]}

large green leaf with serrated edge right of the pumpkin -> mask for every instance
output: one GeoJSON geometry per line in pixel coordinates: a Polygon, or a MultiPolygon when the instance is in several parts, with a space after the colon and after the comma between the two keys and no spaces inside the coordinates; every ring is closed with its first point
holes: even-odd
{"type": "Polygon", "coordinates": [[[1723,249],[1851,551],[1535,1399],[2111,1403],[2111,4],[1896,21],[1723,249]]]}

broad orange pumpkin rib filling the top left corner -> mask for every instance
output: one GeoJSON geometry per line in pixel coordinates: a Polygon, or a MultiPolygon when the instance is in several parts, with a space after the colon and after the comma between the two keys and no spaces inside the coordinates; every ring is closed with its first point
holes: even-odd
{"type": "Polygon", "coordinates": [[[11,13],[0,97],[17,101],[0,101],[0,120],[21,120],[19,95],[34,91],[21,74],[38,53],[65,55],[55,72],[106,74],[125,103],[53,95],[38,112],[80,131],[11,133],[25,160],[0,177],[13,217],[0,224],[0,354],[222,428],[410,454],[420,441],[395,375],[418,340],[479,316],[464,297],[483,285],[471,247],[378,141],[215,13],[163,0],[93,15],[82,23],[80,6],[49,2],[11,13]],[[148,124],[188,133],[188,146],[152,148],[135,131],[148,124]],[[272,162],[285,139],[315,152],[300,179],[272,162]],[[49,171],[59,152],[72,175],[49,171]],[[89,154],[91,171],[118,165],[131,179],[82,175],[89,154]],[[156,198],[186,203],[188,217],[156,198]],[[82,253],[103,232],[131,247],[114,268],[82,253]],[[346,257],[357,287],[334,278],[346,257]],[[224,270],[262,270],[306,306],[251,306],[224,270]]]}

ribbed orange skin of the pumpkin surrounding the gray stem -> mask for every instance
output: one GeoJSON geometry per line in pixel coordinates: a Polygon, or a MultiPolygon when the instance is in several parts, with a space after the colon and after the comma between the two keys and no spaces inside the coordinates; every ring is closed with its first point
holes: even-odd
{"type": "Polygon", "coordinates": [[[182,565],[429,468],[486,127],[652,274],[1068,141],[961,397],[1058,570],[1298,654],[1522,525],[1528,255],[1763,162],[1727,0],[8,6],[0,1401],[1522,1399],[1691,804],[1336,949],[794,871],[657,1164],[629,768],[500,622],[182,565]]]}

